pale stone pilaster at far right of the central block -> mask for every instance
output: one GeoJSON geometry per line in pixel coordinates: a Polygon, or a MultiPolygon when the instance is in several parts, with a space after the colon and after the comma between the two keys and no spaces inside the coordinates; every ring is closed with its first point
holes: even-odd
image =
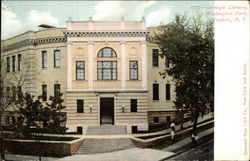
{"type": "Polygon", "coordinates": [[[147,48],[146,41],[141,42],[141,52],[142,52],[142,67],[141,67],[141,76],[142,76],[142,89],[147,89],[148,83],[148,67],[147,67],[147,48]]]}

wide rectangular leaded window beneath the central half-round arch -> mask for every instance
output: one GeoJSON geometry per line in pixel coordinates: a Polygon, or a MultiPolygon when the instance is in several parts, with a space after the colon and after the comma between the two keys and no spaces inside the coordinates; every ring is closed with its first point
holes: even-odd
{"type": "Polygon", "coordinates": [[[99,80],[117,79],[117,62],[116,61],[98,61],[97,70],[98,70],[97,78],[99,80]]]}

